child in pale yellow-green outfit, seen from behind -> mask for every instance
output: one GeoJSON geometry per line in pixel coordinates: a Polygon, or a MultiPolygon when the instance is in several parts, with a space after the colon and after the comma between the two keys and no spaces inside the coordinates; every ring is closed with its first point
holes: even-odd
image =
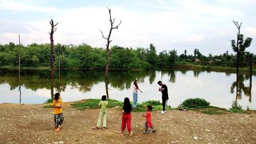
{"type": "Polygon", "coordinates": [[[106,130],[106,117],[107,117],[107,105],[108,101],[106,101],[106,96],[102,96],[100,103],[98,103],[98,107],[100,107],[100,115],[98,116],[98,122],[96,126],[93,126],[93,130],[98,130],[101,126],[101,121],[103,117],[103,130],[106,130]]]}

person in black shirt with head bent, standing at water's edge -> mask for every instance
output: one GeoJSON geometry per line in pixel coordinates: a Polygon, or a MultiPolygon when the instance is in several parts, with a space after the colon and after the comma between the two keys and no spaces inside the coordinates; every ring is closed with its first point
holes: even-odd
{"type": "Polygon", "coordinates": [[[158,84],[161,86],[161,88],[159,88],[159,91],[161,92],[161,100],[163,103],[163,110],[161,111],[161,114],[163,115],[166,113],[167,100],[169,99],[168,98],[168,88],[161,81],[158,81],[158,84]]]}

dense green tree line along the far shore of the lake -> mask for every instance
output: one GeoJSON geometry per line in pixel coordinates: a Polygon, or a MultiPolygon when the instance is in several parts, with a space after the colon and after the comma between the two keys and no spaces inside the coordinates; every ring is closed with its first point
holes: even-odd
{"type": "MultiPolygon", "coordinates": [[[[18,65],[18,47],[14,43],[9,45],[0,44],[0,65],[18,65]]],[[[21,66],[22,67],[49,67],[50,50],[49,44],[21,45],[21,66]]],[[[113,46],[112,48],[116,48],[113,46]]],[[[58,49],[60,50],[60,67],[83,68],[83,69],[104,69],[106,63],[106,50],[104,48],[93,48],[92,46],[81,45],[60,45],[54,46],[54,67],[58,67],[58,49]]],[[[240,66],[249,65],[250,52],[240,53],[240,66]]],[[[199,65],[221,65],[228,67],[236,66],[236,55],[228,54],[228,51],[220,55],[203,56],[196,48],[194,54],[178,55],[177,50],[163,50],[159,54],[156,47],[150,44],[149,48],[121,48],[114,50],[110,57],[112,69],[151,69],[157,67],[171,67],[177,64],[199,64],[199,65]]],[[[256,63],[256,56],[253,56],[253,63],[256,63]]]]}

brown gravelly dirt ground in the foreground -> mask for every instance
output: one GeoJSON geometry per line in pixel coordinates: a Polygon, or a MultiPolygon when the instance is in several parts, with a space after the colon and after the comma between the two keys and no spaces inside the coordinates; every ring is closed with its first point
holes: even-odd
{"type": "Polygon", "coordinates": [[[61,132],[53,109],[43,105],[0,104],[0,143],[256,143],[256,113],[207,115],[196,111],[154,111],[156,134],[142,134],[144,118],[132,113],[133,137],[121,137],[121,111],[108,109],[108,128],[92,130],[99,109],[79,111],[64,103],[61,132]]]}

